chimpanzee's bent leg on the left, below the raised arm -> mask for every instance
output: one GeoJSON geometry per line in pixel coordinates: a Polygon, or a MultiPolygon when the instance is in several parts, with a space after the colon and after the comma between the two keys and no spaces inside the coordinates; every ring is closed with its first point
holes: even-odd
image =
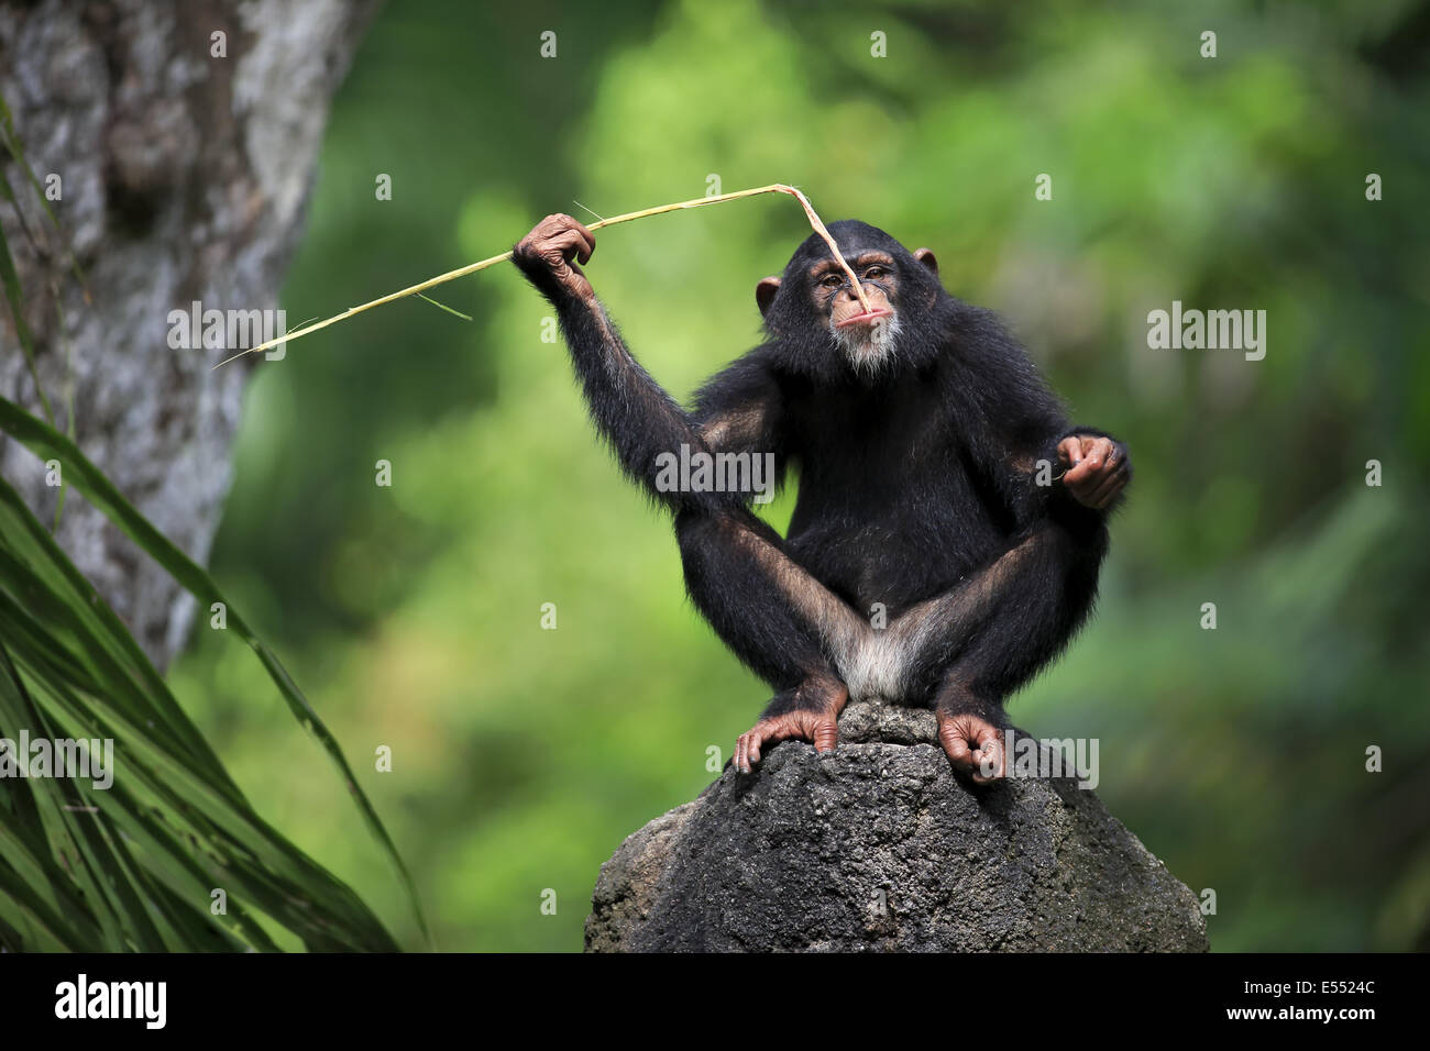
{"type": "Polygon", "coordinates": [[[676,515],[675,532],[695,606],[725,645],[778,691],[736,742],[735,768],[748,772],[762,746],[786,738],[832,749],[835,719],[849,694],[828,655],[868,625],[745,509],[686,509],[676,515]]]}

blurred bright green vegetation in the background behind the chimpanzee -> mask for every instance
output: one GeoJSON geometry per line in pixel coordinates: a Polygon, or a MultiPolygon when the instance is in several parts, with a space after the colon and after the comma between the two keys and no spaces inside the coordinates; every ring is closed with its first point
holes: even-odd
{"type": "MultiPolygon", "coordinates": [[[[1216,949],[1430,947],[1430,9],[488,7],[373,24],[293,323],[588,214],[573,202],[613,214],[711,174],[934,247],[1138,468],[1101,613],[1014,719],[1101,739],[1111,811],[1217,892],[1216,949]],[[1267,310],[1266,359],[1148,350],[1174,299],[1267,310]]],[[[754,285],[807,233],[759,197],[602,232],[588,273],[685,398],[756,342],[754,285]]],[[[541,339],[549,307],[511,267],[436,297],[475,320],[405,300],[257,367],[213,569],[347,749],[438,947],[576,949],[601,862],[715,776],[706,749],[728,756],[768,691],[685,601],[668,522],[541,339]]],[[[172,678],[257,809],[419,948],[252,653],[200,623],[172,678]]]]}

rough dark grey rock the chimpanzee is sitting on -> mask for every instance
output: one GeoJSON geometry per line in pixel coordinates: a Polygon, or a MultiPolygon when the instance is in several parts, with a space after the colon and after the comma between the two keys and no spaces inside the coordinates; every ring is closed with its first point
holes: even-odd
{"type": "Polygon", "coordinates": [[[1208,948],[1197,899],[1074,779],[957,779],[927,711],[726,768],[601,868],[586,949],[1208,948]]]}

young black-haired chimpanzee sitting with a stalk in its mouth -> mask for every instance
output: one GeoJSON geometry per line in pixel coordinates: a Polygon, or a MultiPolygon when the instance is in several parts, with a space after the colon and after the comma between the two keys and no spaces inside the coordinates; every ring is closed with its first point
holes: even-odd
{"type": "Polygon", "coordinates": [[[768,339],[692,412],[631,356],[576,266],[591,230],[548,216],[515,262],[556,307],[621,466],[674,510],[695,605],[778,691],[736,742],[736,769],[786,738],[832,749],[845,702],[879,696],[931,705],[955,768],[1000,778],[1004,698],[1093,608],[1127,449],[1068,425],[992,313],[944,290],[931,252],[855,220],[829,233],[869,309],[811,235],[755,289],[768,339]],[[772,453],[781,478],[794,466],[788,536],[749,492],[658,485],[682,445],[772,453]]]}

